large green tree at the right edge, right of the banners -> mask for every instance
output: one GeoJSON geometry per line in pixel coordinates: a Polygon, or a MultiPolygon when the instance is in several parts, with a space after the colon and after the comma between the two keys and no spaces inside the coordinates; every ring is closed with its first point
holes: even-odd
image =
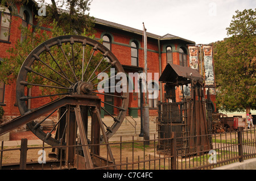
{"type": "Polygon", "coordinates": [[[255,10],[236,11],[226,28],[231,36],[214,43],[216,103],[220,110],[249,112],[256,109],[255,10]]]}

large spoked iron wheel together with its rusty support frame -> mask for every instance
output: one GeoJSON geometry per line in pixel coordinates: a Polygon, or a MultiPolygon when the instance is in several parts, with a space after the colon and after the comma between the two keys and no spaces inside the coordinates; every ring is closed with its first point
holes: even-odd
{"type": "MultiPolygon", "coordinates": [[[[124,72],[114,54],[96,40],[67,35],[45,41],[28,55],[19,71],[16,101],[21,116],[0,125],[0,134],[27,124],[49,145],[82,144],[86,168],[93,167],[96,163],[92,162],[92,154],[100,155],[100,148],[89,148],[88,144],[108,142],[122,124],[129,103],[128,91],[98,91],[98,75],[109,73],[110,68],[115,68],[116,73],[124,72]],[[102,101],[100,96],[113,96],[115,105],[102,101]],[[104,104],[112,106],[117,116],[109,113],[104,104]],[[102,121],[101,110],[112,117],[112,123],[102,121]],[[53,115],[57,115],[57,121],[51,131],[40,129],[53,115]]],[[[105,88],[110,89],[100,89],[105,88]]],[[[113,161],[110,148],[106,149],[113,161]]],[[[75,157],[78,155],[73,148],[65,149],[67,163],[75,165],[75,157]]]]}

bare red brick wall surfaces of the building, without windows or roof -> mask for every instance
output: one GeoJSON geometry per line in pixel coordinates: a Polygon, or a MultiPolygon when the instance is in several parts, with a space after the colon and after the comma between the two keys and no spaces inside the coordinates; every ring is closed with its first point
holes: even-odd
{"type": "MultiPolygon", "coordinates": [[[[18,6],[19,10],[19,6],[18,6]]],[[[32,18],[32,17],[31,17],[32,18]]],[[[32,20],[33,23],[35,22],[35,19],[32,20]]],[[[6,53],[6,50],[10,47],[14,46],[15,41],[20,39],[20,30],[19,26],[22,23],[22,19],[20,19],[18,16],[12,17],[11,22],[11,35],[10,35],[10,43],[0,43],[0,57],[7,57],[8,54],[6,53]]],[[[142,35],[137,35],[131,32],[125,32],[122,30],[117,30],[115,28],[111,27],[103,27],[103,26],[96,26],[96,38],[100,39],[102,36],[102,33],[108,32],[113,37],[113,43],[112,43],[112,52],[114,55],[118,58],[118,60],[123,65],[131,65],[131,48],[130,48],[130,41],[131,40],[137,40],[139,41],[139,44],[141,47],[139,47],[138,52],[138,59],[139,59],[139,67],[144,68],[144,50],[143,50],[143,38],[142,35]]],[[[179,42],[175,40],[170,40],[172,44],[174,44],[175,49],[173,50],[172,57],[174,64],[179,65],[179,53],[177,52],[177,47],[179,47],[179,42]]],[[[154,73],[159,73],[159,53],[158,53],[158,41],[155,39],[148,38],[147,40],[147,68],[148,73],[152,73],[152,79],[155,79],[155,81],[158,81],[158,78],[154,77],[154,73]]],[[[163,45],[161,45],[161,59],[162,59],[162,70],[166,67],[166,53],[163,50],[163,45]]],[[[188,60],[188,58],[187,58],[188,60]]],[[[160,74],[159,74],[160,76],[160,74]]],[[[164,93],[164,87],[162,86],[162,90],[164,93]]],[[[40,90],[36,87],[32,89],[32,96],[40,95],[40,90]]],[[[129,107],[138,107],[138,94],[133,94],[131,92],[130,94],[130,102],[129,107]]],[[[164,94],[163,94],[164,95],[164,94]]],[[[15,83],[11,85],[6,85],[5,87],[5,104],[4,110],[5,115],[19,115],[18,107],[14,106],[15,104],[15,83]]],[[[98,95],[102,100],[104,99],[104,95],[98,95]]],[[[179,101],[179,89],[176,91],[176,98],[177,101],[179,101]]],[[[160,100],[160,94],[159,98],[160,100]]],[[[31,108],[43,106],[44,104],[48,103],[50,101],[49,98],[44,99],[42,102],[42,99],[32,99],[31,100],[31,108]]],[[[114,99],[115,105],[120,105],[119,100],[114,99]]],[[[104,106],[102,103],[101,106],[104,106]]],[[[117,110],[114,109],[114,113],[116,113],[117,110]]],[[[150,115],[156,114],[156,110],[150,110],[150,115]]]]}

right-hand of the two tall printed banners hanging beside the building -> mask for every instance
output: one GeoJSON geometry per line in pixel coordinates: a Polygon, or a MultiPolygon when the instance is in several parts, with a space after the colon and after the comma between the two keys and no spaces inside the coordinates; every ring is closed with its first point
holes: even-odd
{"type": "Polygon", "coordinates": [[[205,85],[214,85],[213,51],[212,46],[203,46],[205,85]]]}

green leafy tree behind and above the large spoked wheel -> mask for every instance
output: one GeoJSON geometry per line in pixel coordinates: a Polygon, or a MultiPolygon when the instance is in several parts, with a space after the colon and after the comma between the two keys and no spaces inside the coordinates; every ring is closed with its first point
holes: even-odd
{"type": "MultiPolygon", "coordinates": [[[[52,2],[54,3],[55,1],[52,0],[52,2]]],[[[80,11],[78,11],[78,5],[77,3],[73,3],[73,2],[84,2],[84,6],[87,5],[88,1],[65,1],[68,2],[67,5],[69,9],[75,9],[73,12],[73,18],[75,18],[75,15],[77,16],[81,16],[79,13],[80,11]]],[[[55,5],[49,5],[47,7],[47,9],[54,9],[55,5]]],[[[89,10],[89,9],[87,9],[89,10]]],[[[48,11],[47,11],[48,13],[48,11]]],[[[55,12],[51,12],[52,14],[54,14],[55,12]]],[[[93,35],[93,28],[92,28],[92,24],[91,24],[91,19],[88,20],[88,24],[85,27],[82,27],[82,24],[85,23],[85,20],[81,20],[82,23],[80,24],[80,27],[73,27],[73,23],[79,23],[80,20],[79,18],[74,21],[68,21],[68,22],[57,22],[57,19],[62,19],[64,16],[67,16],[67,14],[70,14],[69,11],[64,11],[60,12],[60,10],[57,10],[56,13],[59,15],[59,18],[52,18],[52,14],[47,14],[47,16],[37,16],[36,18],[38,19],[38,25],[36,27],[31,27],[31,28],[24,28],[22,26],[20,26],[21,32],[26,35],[26,39],[23,40],[22,42],[20,40],[17,40],[14,47],[10,48],[7,50],[9,57],[5,57],[4,61],[0,64],[0,80],[4,81],[6,84],[8,83],[13,83],[16,78],[18,77],[18,73],[20,70],[20,67],[22,66],[24,60],[26,59],[26,57],[28,56],[28,54],[35,49],[39,44],[42,44],[44,41],[51,39],[52,37],[56,37],[56,36],[61,36],[61,35],[73,35],[73,34],[77,34],[77,35],[82,35],[82,36],[87,36],[91,39],[94,39],[94,35],[93,35]],[[49,16],[48,16],[49,15],[49,16]],[[51,28],[43,28],[42,27],[46,27],[45,24],[47,24],[47,27],[51,27],[51,28]]],[[[72,19],[72,18],[71,18],[72,19]]],[[[70,19],[69,19],[70,20],[70,19]]],[[[70,51],[70,45],[63,45],[63,49],[65,50],[65,47],[67,48],[67,52],[70,51]]],[[[52,50],[55,53],[55,56],[58,57],[59,61],[58,63],[61,64],[63,66],[63,69],[68,69],[68,65],[63,64],[63,62],[65,62],[64,56],[60,56],[61,52],[59,49],[56,50],[52,50]]],[[[74,52],[81,52],[81,47],[74,47],[74,52]]],[[[85,60],[89,60],[89,57],[91,56],[92,53],[92,47],[88,47],[86,46],[85,49],[85,60]]],[[[70,53],[69,53],[70,54],[70,53]]],[[[78,75],[81,75],[81,64],[82,62],[79,61],[81,60],[81,53],[78,53],[76,60],[76,73],[78,75]]],[[[41,57],[42,60],[44,60],[44,57],[41,57]]],[[[69,59],[71,59],[70,57],[68,57],[69,59]]],[[[102,54],[98,53],[96,56],[93,57],[93,60],[90,62],[90,67],[88,68],[89,72],[92,72],[94,70],[94,68],[97,65],[97,62],[99,60],[101,60],[102,58],[102,54]]],[[[47,58],[45,58],[44,60],[45,62],[47,62],[47,58]]],[[[49,62],[49,64],[51,64],[49,62]]],[[[106,62],[102,62],[102,64],[100,65],[100,67],[98,68],[99,70],[103,70],[102,67],[106,66],[106,62]]],[[[56,65],[52,65],[52,66],[56,66],[56,65]]],[[[35,71],[37,71],[38,73],[44,73],[47,74],[49,77],[51,77],[52,79],[55,79],[55,81],[57,81],[57,79],[59,78],[58,76],[56,76],[54,74],[54,72],[48,68],[45,68],[44,66],[38,64],[34,64],[34,68],[35,71]]],[[[85,75],[86,76],[86,75],[85,75]]],[[[32,76],[30,77],[30,82],[34,82],[34,83],[43,83],[43,84],[48,84],[51,85],[52,82],[51,81],[47,81],[46,79],[43,79],[40,76],[32,76]]],[[[95,79],[95,81],[97,81],[97,79],[95,79]]],[[[63,83],[63,82],[60,82],[63,83]]],[[[43,93],[47,94],[46,91],[42,91],[43,93]]]]}

